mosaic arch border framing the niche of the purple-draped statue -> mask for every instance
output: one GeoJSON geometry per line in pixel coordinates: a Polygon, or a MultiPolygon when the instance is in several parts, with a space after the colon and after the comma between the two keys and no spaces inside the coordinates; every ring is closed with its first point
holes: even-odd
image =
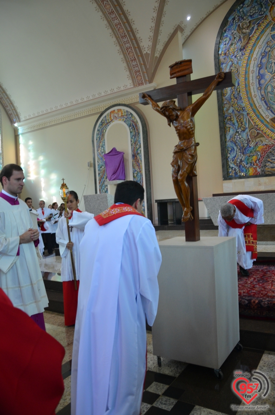
{"type": "Polygon", "coordinates": [[[95,193],[108,193],[103,154],[106,152],[107,130],[114,122],[122,122],[127,127],[133,180],[140,183],[145,189],[144,211],[146,217],[153,221],[147,127],[144,117],[130,105],[111,105],[100,114],[95,122],[92,131],[95,193]]]}

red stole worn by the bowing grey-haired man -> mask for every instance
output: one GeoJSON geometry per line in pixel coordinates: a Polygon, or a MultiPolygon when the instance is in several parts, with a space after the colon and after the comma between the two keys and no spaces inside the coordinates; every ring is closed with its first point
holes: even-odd
{"type": "MultiPolygon", "coordinates": [[[[241,202],[241,200],[232,199],[229,200],[228,203],[231,203],[231,205],[236,206],[243,215],[248,217],[254,217],[253,209],[247,207],[243,202],[241,202]]],[[[227,223],[227,225],[234,229],[241,229],[245,225],[244,223],[236,223],[234,219],[232,219],[230,222],[228,222],[227,220],[225,222],[227,223]]],[[[251,224],[245,226],[243,229],[243,234],[244,242],[246,244],[246,251],[252,252],[252,259],[257,259],[257,225],[251,224]]]]}

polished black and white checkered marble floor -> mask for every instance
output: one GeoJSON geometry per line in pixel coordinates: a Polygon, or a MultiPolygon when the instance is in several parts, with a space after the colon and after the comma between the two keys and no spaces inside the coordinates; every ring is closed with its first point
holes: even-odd
{"type": "MultiPolygon", "coordinates": [[[[62,373],[65,391],[56,409],[58,415],[71,413],[71,359],[74,327],[64,327],[64,316],[44,312],[46,330],[65,347],[62,373]]],[[[234,414],[231,404],[241,405],[241,400],[232,392],[233,372],[258,369],[269,379],[270,392],[259,398],[258,405],[269,405],[268,410],[253,411],[261,415],[275,414],[275,353],[247,349],[233,351],[221,366],[223,380],[214,376],[212,369],[162,358],[158,367],[153,355],[152,334],[147,332],[147,373],[141,405],[141,415],[221,415],[234,414]]],[[[257,398],[258,399],[258,398],[257,398]]],[[[239,410],[239,413],[244,413],[239,410]]],[[[245,411],[247,413],[247,411],[245,411]]]]}

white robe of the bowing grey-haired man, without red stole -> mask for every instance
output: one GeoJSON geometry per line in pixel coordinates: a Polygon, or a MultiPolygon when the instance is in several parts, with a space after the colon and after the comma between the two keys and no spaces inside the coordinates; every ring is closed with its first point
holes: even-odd
{"type": "MultiPolygon", "coordinates": [[[[234,220],[236,223],[243,224],[243,223],[251,222],[254,225],[260,225],[261,223],[264,222],[262,200],[258,198],[254,198],[253,196],[249,196],[249,195],[238,195],[238,196],[234,196],[234,198],[232,199],[241,200],[247,207],[249,207],[250,209],[253,209],[254,211],[254,217],[248,217],[248,216],[243,215],[243,213],[241,213],[240,210],[238,210],[238,208],[235,206],[236,213],[234,216],[234,220]]],[[[252,259],[251,251],[249,252],[246,251],[246,244],[244,241],[244,234],[243,234],[244,226],[241,229],[231,228],[229,225],[227,225],[225,220],[221,217],[221,212],[219,212],[218,225],[219,225],[219,236],[236,237],[237,262],[244,269],[250,269],[255,259],[252,259]]]]}

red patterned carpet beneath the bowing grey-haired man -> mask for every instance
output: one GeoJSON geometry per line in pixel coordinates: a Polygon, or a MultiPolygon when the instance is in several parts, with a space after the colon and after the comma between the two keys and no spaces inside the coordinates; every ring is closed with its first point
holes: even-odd
{"type": "Polygon", "coordinates": [[[249,273],[238,269],[239,314],[275,319],[275,266],[253,265],[249,273]]]}

